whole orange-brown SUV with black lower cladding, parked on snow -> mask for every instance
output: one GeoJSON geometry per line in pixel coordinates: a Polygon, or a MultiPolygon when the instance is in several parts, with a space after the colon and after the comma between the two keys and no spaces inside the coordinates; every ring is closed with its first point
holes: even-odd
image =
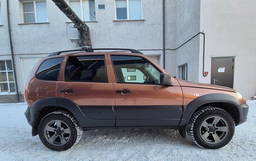
{"type": "Polygon", "coordinates": [[[85,130],[154,127],[179,130],[184,138],[188,133],[201,148],[217,149],[248,114],[234,89],[176,79],[134,49],[49,54],[31,71],[25,98],[32,135],[58,151],[74,146],[85,130]]]}

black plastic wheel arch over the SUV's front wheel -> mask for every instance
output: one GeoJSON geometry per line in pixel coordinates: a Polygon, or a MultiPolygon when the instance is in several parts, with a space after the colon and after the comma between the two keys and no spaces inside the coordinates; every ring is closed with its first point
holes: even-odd
{"type": "Polygon", "coordinates": [[[186,105],[179,126],[187,126],[193,113],[206,106],[224,109],[232,116],[235,124],[238,125],[241,119],[241,109],[238,107],[240,104],[239,100],[228,94],[207,94],[200,96],[186,105]]]}

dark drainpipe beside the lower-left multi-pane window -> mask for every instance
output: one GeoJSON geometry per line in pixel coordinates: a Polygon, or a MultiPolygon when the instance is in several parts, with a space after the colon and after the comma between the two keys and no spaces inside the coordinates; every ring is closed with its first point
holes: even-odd
{"type": "Polygon", "coordinates": [[[9,39],[10,39],[10,47],[11,47],[11,54],[12,54],[12,67],[13,67],[14,80],[15,80],[16,96],[17,96],[18,102],[20,102],[20,96],[19,96],[19,90],[18,90],[18,84],[17,84],[17,75],[16,75],[16,69],[15,69],[14,54],[13,54],[13,46],[12,46],[12,33],[11,33],[11,24],[10,24],[9,0],[7,0],[6,2],[7,2],[8,30],[9,30],[9,39]]]}

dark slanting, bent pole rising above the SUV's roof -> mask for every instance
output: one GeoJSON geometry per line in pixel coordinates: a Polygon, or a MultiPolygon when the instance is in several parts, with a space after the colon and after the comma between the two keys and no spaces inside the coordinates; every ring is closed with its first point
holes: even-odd
{"type": "Polygon", "coordinates": [[[71,9],[65,0],[52,0],[58,8],[70,19],[75,28],[78,30],[79,37],[79,47],[81,48],[92,48],[92,43],[90,40],[89,27],[83,22],[76,13],[71,9]]]}

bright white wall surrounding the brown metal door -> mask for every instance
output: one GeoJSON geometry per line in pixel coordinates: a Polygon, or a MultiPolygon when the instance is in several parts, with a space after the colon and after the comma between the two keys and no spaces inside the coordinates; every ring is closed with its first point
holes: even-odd
{"type": "MultiPolygon", "coordinates": [[[[211,83],[211,57],[235,56],[234,89],[245,99],[256,94],[256,1],[201,1],[200,29],[205,31],[205,71],[200,43],[199,81],[211,83]]],[[[202,38],[202,37],[201,37],[202,38]]]]}

